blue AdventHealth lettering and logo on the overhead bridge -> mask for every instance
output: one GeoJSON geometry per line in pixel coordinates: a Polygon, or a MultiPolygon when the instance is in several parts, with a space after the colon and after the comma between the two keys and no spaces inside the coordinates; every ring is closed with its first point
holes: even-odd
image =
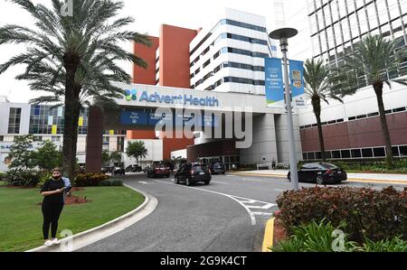
{"type": "MultiPolygon", "coordinates": [[[[126,90],[126,100],[137,100],[137,90],[126,90]]],[[[194,98],[193,95],[160,95],[158,92],[149,94],[147,91],[143,91],[138,101],[147,101],[148,103],[160,103],[160,104],[183,104],[185,106],[202,106],[202,107],[219,107],[219,100],[217,98],[194,98]]]]}

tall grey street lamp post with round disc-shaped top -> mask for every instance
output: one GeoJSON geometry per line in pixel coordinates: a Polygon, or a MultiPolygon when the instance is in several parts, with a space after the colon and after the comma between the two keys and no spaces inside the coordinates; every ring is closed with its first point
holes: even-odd
{"type": "Polygon", "coordinates": [[[287,51],[289,51],[289,38],[298,34],[298,31],[293,28],[282,28],[270,33],[270,38],[279,40],[281,52],[284,61],[284,80],[286,89],[286,108],[287,108],[287,121],[289,124],[289,169],[291,174],[291,183],[294,191],[298,191],[298,170],[297,170],[297,151],[296,142],[294,138],[294,123],[292,120],[292,107],[291,107],[291,85],[289,82],[289,64],[287,51]]]}

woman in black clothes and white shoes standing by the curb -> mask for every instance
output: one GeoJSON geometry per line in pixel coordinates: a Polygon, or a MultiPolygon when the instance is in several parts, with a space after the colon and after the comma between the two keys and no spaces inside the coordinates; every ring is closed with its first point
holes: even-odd
{"type": "Polygon", "coordinates": [[[60,244],[60,240],[56,237],[58,231],[58,220],[60,219],[63,205],[64,192],[70,187],[67,187],[62,179],[60,169],[52,170],[52,179],[43,184],[41,195],[43,195],[43,239],[45,246],[60,244]],[[51,239],[49,238],[51,226],[51,239]]]}

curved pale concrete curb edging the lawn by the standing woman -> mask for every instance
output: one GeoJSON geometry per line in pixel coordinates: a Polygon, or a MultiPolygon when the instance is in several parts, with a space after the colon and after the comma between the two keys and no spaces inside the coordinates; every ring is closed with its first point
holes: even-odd
{"type": "Polygon", "coordinates": [[[136,224],[141,219],[146,218],[149,214],[151,214],[158,204],[158,200],[156,197],[151,196],[145,191],[139,191],[133,187],[130,187],[127,184],[124,184],[125,187],[132,191],[136,191],[144,196],[144,202],[127,214],[113,219],[103,225],[100,225],[96,228],[90,228],[89,230],[80,232],[71,237],[66,237],[61,239],[61,245],[53,246],[53,247],[36,247],[25,252],[66,252],[66,251],[75,251],[80,249],[81,247],[89,246],[92,243],[95,243],[103,238],[109,237],[113,234],[118,233],[119,231],[128,228],[129,226],[136,224]],[[141,217],[140,217],[141,216],[141,217]],[[79,242],[80,244],[75,244],[75,247],[72,246],[73,242],[79,242]],[[71,245],[71,248],[69,247],[71,245]],[[65,249],[64,249],[65,247],[65,249]],[[68,250],[67,250],[68,249],[68,250]]]}

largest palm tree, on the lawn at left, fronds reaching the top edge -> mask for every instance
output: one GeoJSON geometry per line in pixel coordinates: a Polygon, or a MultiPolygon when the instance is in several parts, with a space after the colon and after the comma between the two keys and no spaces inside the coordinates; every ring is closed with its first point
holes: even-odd
{"type": "Polygon", "coordinates": [[[34,101],[63,100],[64,169],[75,174],[78,121],[83,98],[112,101],[123,90],[112,82],[130,82],[131,78],[116,61],[130,61],[140,67],[147,63],[121,49],[118,42],[151,45],[147,36],[122,31],[133,23],[131,17],[115,18],[124,4],[114,0],[72,1],[73,15],[62,14],[64,1],[52,0],[52,8],[34,5],[31,0],[11,0],[33,16],[35,29],[7,24],[0,27],[0,44],[25,43],[27,51],[0,65],[0,74],[17,64],[27,65],[16,79],[30,80],[32,90],[45,90],[52,96],[34,101]]]}

